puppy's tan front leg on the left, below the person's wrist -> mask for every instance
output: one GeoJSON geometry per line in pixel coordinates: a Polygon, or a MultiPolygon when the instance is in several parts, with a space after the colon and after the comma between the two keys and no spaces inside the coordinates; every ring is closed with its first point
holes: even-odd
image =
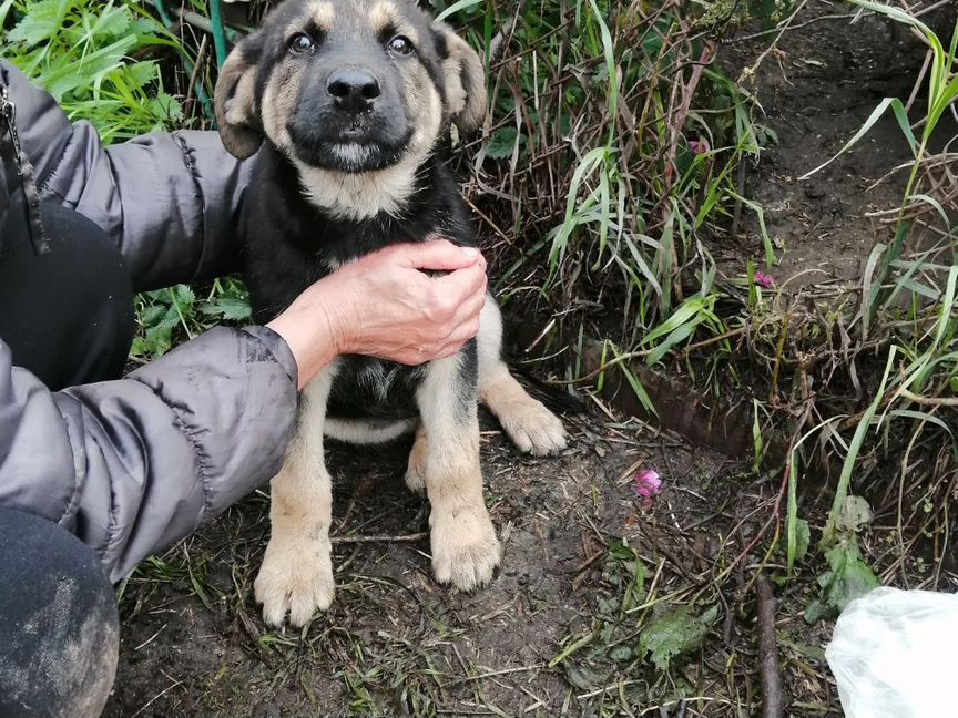
{"type": "Polygon", "coordinates": [[[299,398],[296,431],[286,461],[271,483],[269,544],[253,586],[263,619],[304,625],[333,602],[329,523],[333,489],[323,455],[326,401],[336,367],[324,369],[299,398]]]}

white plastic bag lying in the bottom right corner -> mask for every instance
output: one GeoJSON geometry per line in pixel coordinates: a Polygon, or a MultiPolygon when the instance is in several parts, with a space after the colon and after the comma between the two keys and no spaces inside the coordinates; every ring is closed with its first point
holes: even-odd
{"type": "Polygon", "coordinates": [[[846,718],[958,718],[958,596],[876,588],[845,607],[825,657],[846,718]]]}

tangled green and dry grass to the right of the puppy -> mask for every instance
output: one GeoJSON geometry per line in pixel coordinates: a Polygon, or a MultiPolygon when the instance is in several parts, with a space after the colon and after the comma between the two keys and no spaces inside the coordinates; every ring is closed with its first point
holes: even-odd
{"type": "MultiPolygon", "coordinates": [[[[919,32],[929,49],[927,101],[923,113],[889,98],[857,133],[849,129],[843,152],[890,107],[915,161],[890,240],[876,244],[862,285],[835,290],[809,311],[801,290],[767,290],[755,279],[781,254],[763,208],[741,182],[743,166],[775,142],[757,121],[750,91],[756,68],[735,82],[700,64],[717,51],[712,33],[727,29],[715,13],[728,22],[741,18],[722,16],[721,3],[709,12],[690,3],[676,19],[671,11],[677,4],[613,10],[578,2],[564,14],[549,2],[523,6],[514,25],[519,50],[490,66],[491,122],[481,141],[467,145],[483,161],[486,192],[476,202],[487,232],[501,238],[493,250],[510,257],[499,290],[507,301],[552,309],[553,329],[541,342],[547,356],[569,346],[574,351],[587,335],[602,339],[600,388],[609,371],[622,371],[625,386],[653,411],[630,361],[685,375],[715,397],[751,394],[763,418],[754,432],[758,444],[782,432],[793,435],[782,484],[789,566],[804,553],[799,535],[807,533],[798,507],[803,474],[837,463],[817,545],[822,554],[847,546],[842,565],[852,575],[864,566],[854,532],[837,530],[849,494],[867,493],[884,506],[898,491],[904,550],[940,522],[958,470],[958,425],[947,416],[958,383],[950,289],[958,256],[956,185],[947,163],[928,152],[958,93],[958,31],[942,40],[903,10],[854,1],[919,32]],[[913,126],[920,129],[917,136],[913,126]],[[512,202],[503,203],[506,196],[512,202]],[[760,253],[745,263],[743,276],[723,276],[710,246],[715,237],[737,239],[748,213],[760,253]],[[516,247],[510,235],[541,239],[516,247]],[[850,352],[836,348],[836,332],[848,337],[850,352]],[[876,353],[879,361],[872,359],[876,353]],[[815,357],[814,368],[803,357],[815,357]],[[846,387],[856,361],[869,369],[849,410],[846,387]],[[920,462],[926,475],[919,481],[906,468],[923,445],[937,455],[920,462]],[[916,496],[923,498],[917,504],[916,496]],[[929,502],[930,513],[924,509],[929,502]],[[909,524],[911,540],[905,537],[909,524]]],[[[457,18],[481,44],[479,28],[511,27],[509,10],[473,7],[457,18]]],[[[791,8],[777,10],[784,19],[791,8]]],[[[778,29],[786,28],[783,22],[778,29]]],[[[568,378],[582,377],[581,359],[565,356],[568,378]]],[[[777,519],[774,525],[773,548],[777,519]]]]}

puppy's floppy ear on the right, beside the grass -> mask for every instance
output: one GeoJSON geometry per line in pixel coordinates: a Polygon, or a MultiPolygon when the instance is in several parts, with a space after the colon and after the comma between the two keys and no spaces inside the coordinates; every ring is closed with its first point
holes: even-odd
{"type": "Polygon", "coordinates": [[[447,119],[461,132],[472,132],[486,119],[486,72],[479,54],[445,22],[432,24],[439,59],[447,119]]]}

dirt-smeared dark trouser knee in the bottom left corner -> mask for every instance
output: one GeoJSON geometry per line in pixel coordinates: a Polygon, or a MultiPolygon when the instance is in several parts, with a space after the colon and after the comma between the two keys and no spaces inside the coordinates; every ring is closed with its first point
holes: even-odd
{"type": "Polygon", "coordinates": [[[113,588],[57,524],[0,509],[0,717],[94,718],[116,673],[113,588]]]}

